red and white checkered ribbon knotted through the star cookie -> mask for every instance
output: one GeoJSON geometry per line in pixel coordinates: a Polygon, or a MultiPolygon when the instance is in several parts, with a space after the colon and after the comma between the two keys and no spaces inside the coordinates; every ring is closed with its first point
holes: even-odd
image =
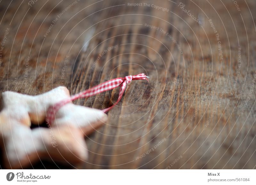
{"type": "Polygon", "coordinates": [[[87,89],[85,91],[82,91],[76,95],[71,96],[68,99],[64,99],[64,100],[54,104],[53,106],[49,107],[48,111],[47,111],[48,122],[50,124],[52,123],[52,121],[55,119],[55,113],[58,112],[60,110],[60,108],[62,106],[64,106],[65,104],[68,104],[78,98],[88,98],[88,97],[94,96],[96,94],[99,94],[101,92],[111,90],[111,89],[114,89],[114,88],[117,88],[118,86],[120,86],[119,96],[118,96],[116,103],[113,104],[112,106],[102,110],[103,112],[108,112],[121,100],[121,98],[124,94],[124,90],[126,88],[126,84],[130,83],[132,80],[147,80],[148,81],[148,78],[149,77],[146,76],[144,73],[140,73],[140,74],[137,74],[134,76],[130,75],[130,76],[126,76],[124,78],[115,78],[115,79],[103,82],[103,83],[101,83],[95,87],[92,87],[90,89],[87,89]]]}

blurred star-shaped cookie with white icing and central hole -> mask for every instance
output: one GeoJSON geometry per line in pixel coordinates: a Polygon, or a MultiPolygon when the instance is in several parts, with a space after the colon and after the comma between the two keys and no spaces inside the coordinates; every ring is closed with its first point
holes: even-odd
{"type": "Polygon", "coordinates": [[[58,87],[37,96],[6,91],[2,93],[0,145],[5,168],[22,168],[41,158],[72,164],[88,157],[84,135],[89,135],[107,121],[108,116],[93,108],[65,104],[55,119],[47,123],[50,106],[70,98],[66,87],[58,87]],[[48,127],[30,128],[31,122],[48,127]]]}

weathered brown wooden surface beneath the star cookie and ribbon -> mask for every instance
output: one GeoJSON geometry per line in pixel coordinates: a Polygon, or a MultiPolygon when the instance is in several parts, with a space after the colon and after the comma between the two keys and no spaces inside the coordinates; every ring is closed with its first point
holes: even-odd
{"type": "MultiPolygon", "coordinates": [[[[1,92],[64,85],[75,94],[150,76],[128,85],[106,125],[85,138],[89,160],[74,168],[256,168],[255,1],[28,3],[0,2],[1,92]]],[[[117,96],[115,89],[74,103],[102,109],[117,96]]]]}

